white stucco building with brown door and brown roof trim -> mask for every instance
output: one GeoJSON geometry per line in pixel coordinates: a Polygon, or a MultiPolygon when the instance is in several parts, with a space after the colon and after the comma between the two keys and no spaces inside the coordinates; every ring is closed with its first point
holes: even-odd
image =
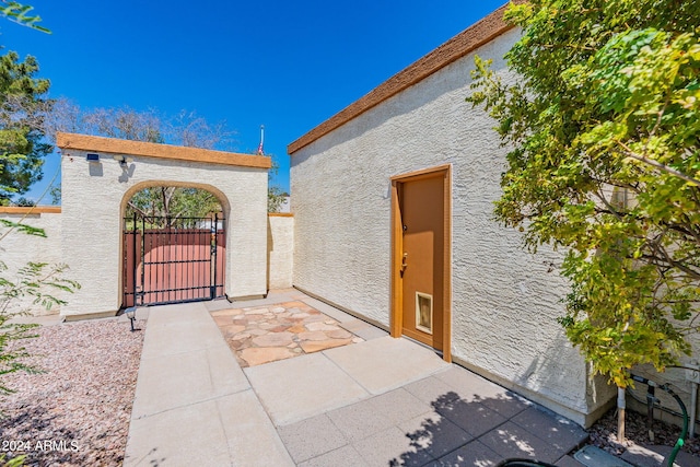
{"type": "Polygon", "coordinates": [[[557,317],[560,255],[492,219],[506,149],[469,95],[474,57],[520,32],[503,9],[289,145],[293,283],[587,425],[614,390],[557,317]]]}

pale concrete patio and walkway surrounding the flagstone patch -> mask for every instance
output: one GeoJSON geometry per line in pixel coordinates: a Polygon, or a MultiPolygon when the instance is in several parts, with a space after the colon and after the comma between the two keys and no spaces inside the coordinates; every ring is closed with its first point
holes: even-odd
{"type": "Polygon", "coordinates": [[[139,313],[125,466],[581,466],[579,425],[296,290],[139,313]],[[364,341],[242,369],[212,313],[294,301],[364,341]]]}

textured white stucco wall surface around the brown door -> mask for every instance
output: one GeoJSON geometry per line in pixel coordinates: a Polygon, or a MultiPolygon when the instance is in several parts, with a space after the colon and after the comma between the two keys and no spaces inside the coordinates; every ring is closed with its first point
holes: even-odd
{"type": "MultiPolygon", "coordinates": [[[[508,79],[501,57],[517,37],[477,54],[508,79]]],[[[464,101],[472,63],[470,54],[293,154],[294,285],[388,326],[389,177],[452,164],[453,357],[584,424],[611,393],[590,384],[556,322],[567,284],[547,264],[560,256],[532,256],[492,221],[506,151],[464,101]]]]}

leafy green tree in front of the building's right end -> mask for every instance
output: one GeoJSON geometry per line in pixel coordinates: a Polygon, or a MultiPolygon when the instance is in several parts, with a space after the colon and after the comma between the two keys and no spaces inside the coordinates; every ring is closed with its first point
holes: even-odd
{"type": "Polygon", "coordinates": [[[595,371],[663,371],[691,348],[700,300],[700,2],[532,0],[474,93],[510,149],[495,218],[563,247],[567,336],[595,371]]]}

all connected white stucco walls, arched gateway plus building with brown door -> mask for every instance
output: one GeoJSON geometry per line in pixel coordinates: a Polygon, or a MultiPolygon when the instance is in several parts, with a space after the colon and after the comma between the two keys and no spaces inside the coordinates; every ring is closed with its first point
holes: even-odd
{"type": "Polygon", "coordinates": [[[293,284],[592,423],[615,390],[557,323],[569,290],[550,271],[560,254],[530,255],[521,233],[493,221],[508,150],[494,121],[465,102],[477,54],[515,79],[503,55],[520,33],[503,10],[292,142],[291,214],[266,213],[267,157],[59,135],[60,213],[32,211],[49,237],[19,238],[27,246],[11,244],[18,254],[7,259],[49,249],[82,285],[60,313],[114,315],[125,306],[129,198],[159,185],[205,188],[225,219],[229,299],[293,284]]]}

